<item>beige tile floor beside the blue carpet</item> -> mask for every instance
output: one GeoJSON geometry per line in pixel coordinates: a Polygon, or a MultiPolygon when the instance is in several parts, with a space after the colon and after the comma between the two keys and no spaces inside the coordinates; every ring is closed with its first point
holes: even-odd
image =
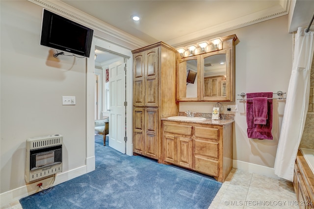
{"type": "MultiPolygon", "coordinates": [[[[209,209],[298,209],[291,182],[233,168],[209,209]]],[[[19,201],[1,209],[21,209],[19,201]]]]}

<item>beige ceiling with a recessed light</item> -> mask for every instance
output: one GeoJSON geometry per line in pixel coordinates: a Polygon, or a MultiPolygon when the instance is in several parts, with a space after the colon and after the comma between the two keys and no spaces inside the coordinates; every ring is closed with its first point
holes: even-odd
{"type": "MultiPolygon", "coordinates": [[[[284,0],[62,0],[148,44],[168,43],[206,28],[264,18],[286,9],[284,0]],[[139,15],[135,22],[131,16],[139,15]]],[[[173,43],[171,43],[173,45],[173,43]]]]}

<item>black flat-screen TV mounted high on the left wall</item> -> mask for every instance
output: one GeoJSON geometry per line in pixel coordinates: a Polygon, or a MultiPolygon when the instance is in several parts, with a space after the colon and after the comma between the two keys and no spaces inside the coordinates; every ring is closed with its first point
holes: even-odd
{"type": "Polygon", "coordinates": [[[93,32],[88,27],[44,9],[40,44],[89,57],[93,32]]]}

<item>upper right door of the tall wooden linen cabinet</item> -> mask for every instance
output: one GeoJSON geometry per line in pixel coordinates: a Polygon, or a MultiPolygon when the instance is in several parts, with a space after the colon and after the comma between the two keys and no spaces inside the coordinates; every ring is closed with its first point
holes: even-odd
{"type": "Polygon", "coordinates": [[[146,101],[145,106],[158,107],[158,72],[159,48],[154,48],[146,53],[146,101]]]}

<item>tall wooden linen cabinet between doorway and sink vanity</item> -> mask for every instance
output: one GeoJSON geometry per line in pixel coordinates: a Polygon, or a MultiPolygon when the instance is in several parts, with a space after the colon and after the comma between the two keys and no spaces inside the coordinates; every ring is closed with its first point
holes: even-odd
{"type": "Polygon", "coordinates": [[[133,53],[133,154],[161,159],[160,118],[178,115],[176,54],[159,42],[133,53]]]}

